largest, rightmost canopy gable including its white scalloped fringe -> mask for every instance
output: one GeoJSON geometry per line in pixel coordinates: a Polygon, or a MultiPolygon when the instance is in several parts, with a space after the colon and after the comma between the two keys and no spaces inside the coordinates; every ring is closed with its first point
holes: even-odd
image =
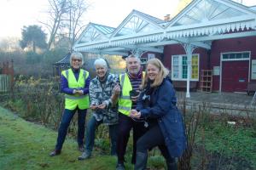
{"type": "Polygon", "coordinates": [[[166,32],[172,32],[169,37],[195,37],[243,31],[255,25],[255,14],[253,9],[230,0],[194,0],[171,20],[166,32]]]}

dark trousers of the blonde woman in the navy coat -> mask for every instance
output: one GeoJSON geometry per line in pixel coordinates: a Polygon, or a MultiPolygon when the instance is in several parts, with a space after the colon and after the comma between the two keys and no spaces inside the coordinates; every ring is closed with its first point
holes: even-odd
{"type": "Polygon", "coordinates": [[[148,150],[153,149],[155,146],[159,147],[160,152],[166,158],[166,161],[175,161],[168,152],[164,136],[158,123],[154,123],[153,127],[150,127],[149,125],[148,132],[144,133],[143,136],[137,140],[137,152],[147,154],[148,150]]]}

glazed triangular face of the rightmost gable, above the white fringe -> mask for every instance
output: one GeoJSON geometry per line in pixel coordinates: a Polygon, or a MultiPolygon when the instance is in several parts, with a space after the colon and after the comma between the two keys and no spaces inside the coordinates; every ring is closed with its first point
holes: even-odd
{"type": "Polygon", "coordinates": [[[200,0],[192,1],[172,19],[169,26],[184,26],[206,21],[233,18],[252,14],[253,10],[240,3],[230,0],[200,0]]]}

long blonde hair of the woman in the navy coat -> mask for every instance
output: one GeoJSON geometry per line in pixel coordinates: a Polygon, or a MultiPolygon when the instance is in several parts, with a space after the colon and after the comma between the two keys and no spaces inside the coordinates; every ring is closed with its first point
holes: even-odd
{"type": "Polygon", "coordinates": [[[166,69],[166,67],[162,64],[160,59],[154,58],[154,59],[149,59],[146,64],[146,74],[145,77],[143,78],[143,82],[141,85],[141,88],[145,88],[148,83],[148,71],[147,67],[148,65],[154,65],[159,69],[159,74],[155,77],[154,82],[150,85],[151,88],[160,86],[160,84],[163,82],[164,78],[169,74],[169,71],[166,69]]]}

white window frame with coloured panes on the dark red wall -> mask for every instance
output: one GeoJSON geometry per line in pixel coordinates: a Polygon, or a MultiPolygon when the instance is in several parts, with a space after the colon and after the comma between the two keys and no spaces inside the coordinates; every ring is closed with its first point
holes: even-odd
{"type": "MultiPolygon", "coordinates": [[[[190,77],[190,81],[199,81],[200,54],[192,54],[192,56],[193,55],[197,55],[197,57],[198,57],[198,60],[197,60],[197,65],[198,65],[197,75],[198,75],[198,78],[192,78],[192,59],[191,59],[191,72],[190,72],[191,77],[190,77]]],[[[174,81],[187,81],[187,78],[182,78],[182,74],[183,74],[183,65],[182,65],[183,56],[188,57],[188,55],[186,55],[186,54],[172,55],[172,80],[174,80],[174,81]],[[173,58],[174,57],[178,57],[178,78],[173,77],[173,58]]]]}

